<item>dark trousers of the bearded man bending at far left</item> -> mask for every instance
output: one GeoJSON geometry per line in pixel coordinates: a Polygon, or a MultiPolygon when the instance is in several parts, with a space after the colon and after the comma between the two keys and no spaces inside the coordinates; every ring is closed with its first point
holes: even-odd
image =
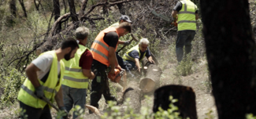
{"type": "Polygon", "coordinates": [[[20,118],[22,119],[51,119],[50,108],[47,104],[42,110],[42,108],[34,108],[20,102],[20,108],[22,111],[25,110],[25,112],[20,115],[20,118]]]}

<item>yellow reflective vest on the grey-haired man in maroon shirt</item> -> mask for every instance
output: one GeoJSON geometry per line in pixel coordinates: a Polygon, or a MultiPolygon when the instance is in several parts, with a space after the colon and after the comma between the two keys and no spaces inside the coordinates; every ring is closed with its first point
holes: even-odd
{"type": "MultiPolygon", "coordinates": [[[[82,67],[79,66],[79,61],[83,52],[87,48],[83,45],[79,45],[75,57],[69,59],[69,61],[62,59],[65,63],[64,80],[62,85],[69,86],[71,88],[87,88],[89,79],[83,75],[82,67]]],[[[89,49],[88,49],[89,50],[89,49]]]]}

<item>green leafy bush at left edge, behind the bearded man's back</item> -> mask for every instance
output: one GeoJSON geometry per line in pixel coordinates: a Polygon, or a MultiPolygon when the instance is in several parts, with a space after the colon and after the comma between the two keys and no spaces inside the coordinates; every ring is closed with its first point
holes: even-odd
{"type": "Polygon", "coordinates": [[[5,90],[1,96],[0,107],[9,106],[17,101],[17,94],[20,91],[20,85],[23,84],[25,77],[16,69],[10,70],[9,74],[4,75],[5,81],[2,81],[5,90]]]}

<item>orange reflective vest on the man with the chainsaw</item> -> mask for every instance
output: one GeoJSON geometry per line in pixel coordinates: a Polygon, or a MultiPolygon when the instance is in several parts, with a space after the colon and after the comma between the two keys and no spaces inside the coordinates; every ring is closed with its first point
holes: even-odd
{"type": "MultiPolygon", "coordinates": [[[[117,32],[116,28],[114,27],[106,28],[105,30],[99,32],[95,38],[95,41],[91,45],[91,54],[93,59],[96,59],[98,62],[105,64],[107,67],[109,67],[109,45],[106,44],[103,38],[106,33],[111,31],[117,32]]],[[[115,51],[117,51],[117,45],[115,51]]]]}

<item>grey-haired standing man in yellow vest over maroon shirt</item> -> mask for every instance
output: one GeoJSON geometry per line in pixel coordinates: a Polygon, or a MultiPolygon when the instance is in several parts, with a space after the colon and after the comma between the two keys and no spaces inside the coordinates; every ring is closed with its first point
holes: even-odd
{"type": "MultiPolygon", "coordinates": [[[[68,112],[72,109],[73,105],[78,105],[84,110],[88,81],[89,79],[95,78],[95,74],[91,72],[92,54],[85,47],[89,29],[87,27],[78,27],[75,35],[76,40],[79,42],[79,49],[77,49],[75,58],[69,61],[63,59],[65,72],[62,88],[65,109],[68,112]]],[[[79,116],[76,114],[78,114],[78,111],[74,111],[73,119],[79,116]]]]}

